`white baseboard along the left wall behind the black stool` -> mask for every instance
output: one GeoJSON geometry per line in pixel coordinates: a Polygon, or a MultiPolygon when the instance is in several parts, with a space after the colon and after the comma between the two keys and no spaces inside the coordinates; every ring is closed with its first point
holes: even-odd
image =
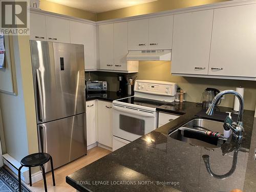
{"type": "MultiPolygon", "coordinates": [[[[16,174],[18,176],[18,168],[20,167],[20,163],[14,159],[13,157],[11,157],[9,154],[4,154],[3,155],[3,161],[4,164],[10,169],[12,170],[12,172],[14,174],[16,174]]],[[[28,167],[23,167],[21,172],[20,172],[20,176],[22,178],[22,180],[25,183],[29,183],[29,168],[28,167]]],[[[37,181],[42,180],[42,174],[41,171],[36,172],[34,174],[31,175],[31,179],[32,179],[32,183],[35,183],[37,181]]]]}

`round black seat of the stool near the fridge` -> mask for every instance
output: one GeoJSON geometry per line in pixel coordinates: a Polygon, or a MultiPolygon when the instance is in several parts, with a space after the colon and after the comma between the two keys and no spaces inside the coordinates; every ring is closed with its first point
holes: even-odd
{"type": "Polygon", "coordinates": [[[47,153],[34,153],[24,157],[20,164],[25,167],[34,167],[47,163],[50,160],[50,155],[47,153]]]}

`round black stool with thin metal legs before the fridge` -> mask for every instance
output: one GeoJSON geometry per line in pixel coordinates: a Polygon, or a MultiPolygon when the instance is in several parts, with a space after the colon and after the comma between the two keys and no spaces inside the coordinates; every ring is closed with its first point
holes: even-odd
{"type": "Polygon", "coordinates": [[[51,168],[52,168],[52,182],[53,182],[53,186],[55,186],[52,157],[47,153],[34,153],[24,157],[20,161],[20,164],[22,166],[20,166],[18,169],[19,192],[22,192],[22,179],[20,178],[20,170],[22,169],[22,167],[29,167],[29,183],[30,183],[30,186],[32,186],[31,167],[35,167],[35,166],[40,166],[42,168],[42,177],[44,178],[45,191],[47,192],[46,172],[45,172],[44,164],[47,163],[49,160],[51,161],[51,168]]]}

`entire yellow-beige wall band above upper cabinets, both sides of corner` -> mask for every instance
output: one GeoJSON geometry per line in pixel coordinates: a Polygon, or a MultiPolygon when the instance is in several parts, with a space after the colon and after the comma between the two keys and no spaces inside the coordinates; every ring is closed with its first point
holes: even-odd
{"type": "Polygon", "coordinates": [[[40,8],[44,11],[59,13],[63,15],[89,19],[93,21],[108,20],[113,18],[122,18],[135,15],[142,15],[148,13],[156,13],[161,11],[180,9],[192,6],[199,6],[205,4],[212,4],[218,2],[225,2],[228,0],[158,0],[155,2],[145,3],[141,5],[126,7],[113,11],[106,11],[102,13],[92,13],[56,3],[47,0],[40,1],[40,8]]]}

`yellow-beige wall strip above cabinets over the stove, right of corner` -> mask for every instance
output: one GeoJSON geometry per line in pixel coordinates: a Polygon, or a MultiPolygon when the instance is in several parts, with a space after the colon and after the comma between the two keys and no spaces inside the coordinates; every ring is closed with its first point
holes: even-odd
{"type": "Polygon", "coordinates": [[[156,13],[160,11],[180,9],[225,1],[227,0],[158,0],[146,4],[98,13],[97,21],[142,15],[147,13],[156,13]]]}

